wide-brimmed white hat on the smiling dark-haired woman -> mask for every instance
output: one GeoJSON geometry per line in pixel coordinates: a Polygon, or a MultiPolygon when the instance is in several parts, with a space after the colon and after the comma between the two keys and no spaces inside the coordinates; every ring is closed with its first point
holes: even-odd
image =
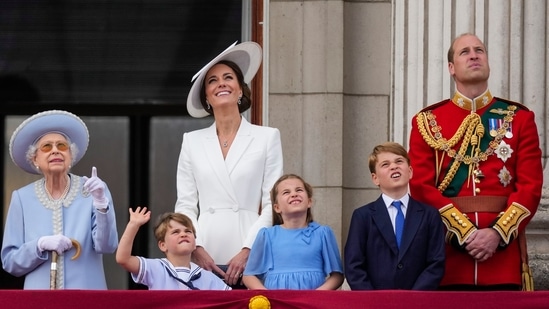
{"type": "Polygon", "coordinates": [[[202,118],[209,115],[200,102],[200,88],[204,82],[204,76],[211,67],[221,60],[232,61],[238,65],[244,75],[244,82],[248,84],[252,78],[254,78],[257,70],[259,70],[262,58],[261,46],[255,42],[243,42],[238,45],[235,42],[221,54],[217,55],[217,57],[200,69],[191,79],[191,82],[194,81],[194,83],[187,96],[187,110],[189,111],[189,114],[195,118],[202,118]]]}

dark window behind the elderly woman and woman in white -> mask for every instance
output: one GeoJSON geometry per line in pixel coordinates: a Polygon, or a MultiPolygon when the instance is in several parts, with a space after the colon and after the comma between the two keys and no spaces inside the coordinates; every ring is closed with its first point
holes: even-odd
{"type": "MultiPolygon", "coordinates": [[[[191,77],[227,46],[249,37],[243,21],[257,14],[250,2],[257,5],[251,0],[0,1],[3,218],[11,191],[35,179],[11,162],[11,134],[27,116],[49,109],[70,111],[86,122],[90,147],[72,172],[89,176],[97,166],[113,194],[119,236],[128,207],[149,206],[151,221],[173,211],[183,132],[213,121],[188,116],[191,77]]],[[[148,224],[138,234],[136,254],[157,255],[151,229],[148,224]]],[[[114,255],[104,259],[110,289],[142,288],[114,255]]],[[[21,286],[3,271],[0,277],[0,288],[21,286]]]]}

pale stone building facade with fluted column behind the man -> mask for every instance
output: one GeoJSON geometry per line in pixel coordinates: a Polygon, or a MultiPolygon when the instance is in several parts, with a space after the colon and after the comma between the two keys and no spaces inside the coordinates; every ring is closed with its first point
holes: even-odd
{"type": "MultiPolygon", "coordinates": [[[[407,146],[413,115],[452,95],[446,53],[461,33],[484,40],[492,94],[535,112],[546,167],[546,1],[272,0],[265,12],[264,124],[280,129],[285,172],[314,185],[315,219],[341,245],[352,211],[380,194],[371,149],[407,146]]],[[[536,289],[549,289],[548,194],[527,230],[536,289]]]]}

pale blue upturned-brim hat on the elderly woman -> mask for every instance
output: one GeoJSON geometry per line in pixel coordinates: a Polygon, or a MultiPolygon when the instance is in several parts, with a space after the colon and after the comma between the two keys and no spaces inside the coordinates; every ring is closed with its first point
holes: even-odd
{"type": "Polygon", "coordinates": [[[10,156],[13,163],[26,172],[39,174],[39,171],[27,161],[27,150],[48,133],[63,134],[71,143],[78,146],[73,164],[78,163],[88,149],[90,136],[82,119],[66,111],[50,110],[27,118],[13,131],[10,140],[10,156]]]}

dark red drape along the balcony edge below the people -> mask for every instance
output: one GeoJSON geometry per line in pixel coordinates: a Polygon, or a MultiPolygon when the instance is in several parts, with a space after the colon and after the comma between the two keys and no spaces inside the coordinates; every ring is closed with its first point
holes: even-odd
{"type": "MultiPolygon", "coordinates": [[[[1,308],[249,308],[254,296],[279,308],[549,308],[549,291],[23,291],[0,290],[1,308]]],[[[259,303],[261,304],[261,302],[259,303]]],[[[257,305],[257,304],[256,304],[257,305]]],[[[260,309],[256,307],[254,309],[260,309]]]]}

